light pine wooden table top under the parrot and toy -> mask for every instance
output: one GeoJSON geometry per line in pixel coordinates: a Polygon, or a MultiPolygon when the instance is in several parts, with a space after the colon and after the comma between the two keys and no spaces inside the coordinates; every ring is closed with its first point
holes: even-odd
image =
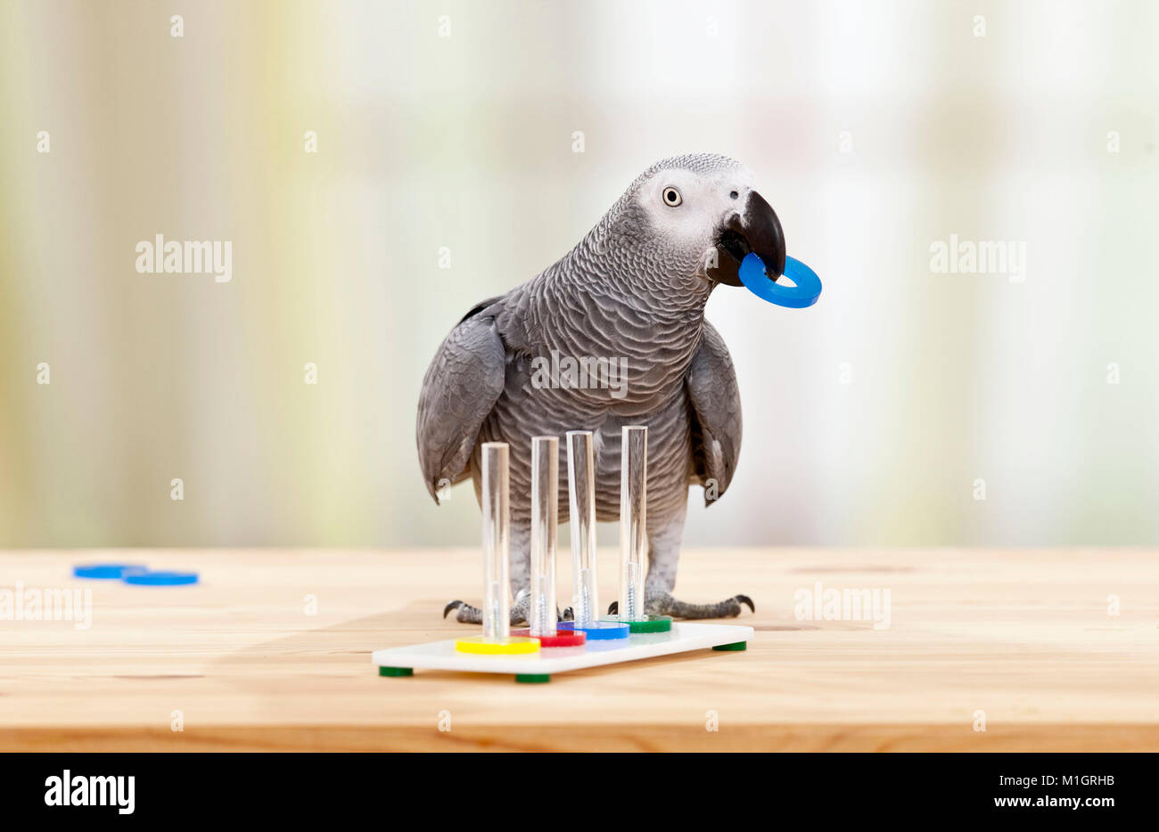
{"type": "Polygon", "coordinates": [[[93,604],[88,629],[0,620],[0,749],[1159,750],[1156,550],[690,550],[678,596],[756,600],[746,652],[547,685],[377,676],[374,649],[471,629],[442,611],[478,601],[479,571],[468,550],[0,554],[0,587],[89,587],[93,604]],[[100,561],[202,584],[72,577],[100,561]],[[795,593],[816,582],[888,589],[889,627],[802,620],[795,593]]]}

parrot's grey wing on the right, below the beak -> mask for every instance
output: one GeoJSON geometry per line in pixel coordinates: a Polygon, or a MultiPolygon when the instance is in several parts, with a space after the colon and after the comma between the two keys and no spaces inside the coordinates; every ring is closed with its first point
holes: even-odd
{"type": "Polygon", "coordinates": [[[692,402],[692,473],[690,482],[705,487],[705,504],[724,494],[741,455],[741,391],[720,333],[705,321],[700,349],[692,359],[685,387],[692,402]],[[715,494],[709,491],[715,482],[715,494]]]}

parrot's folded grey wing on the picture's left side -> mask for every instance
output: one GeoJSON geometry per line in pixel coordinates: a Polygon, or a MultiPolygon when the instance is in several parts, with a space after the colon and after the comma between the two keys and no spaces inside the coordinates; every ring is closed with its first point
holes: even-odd
{"type": "Polygon", "coordinates": [[[465,480],[479,429],[503,392],[506,348],[483,301],[446,336],[418,395],[418,465],[435,502],[465,480]]]}

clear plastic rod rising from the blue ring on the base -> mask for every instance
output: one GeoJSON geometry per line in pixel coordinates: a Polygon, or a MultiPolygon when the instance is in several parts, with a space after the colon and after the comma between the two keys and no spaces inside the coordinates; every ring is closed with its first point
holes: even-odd
{"type": "Polygon", "coordinates": [[[576,627],[599,615],[596,582],[596,461],[590,430],[569,430],[568,523],[571,526],[571,614],[576,627]]]}

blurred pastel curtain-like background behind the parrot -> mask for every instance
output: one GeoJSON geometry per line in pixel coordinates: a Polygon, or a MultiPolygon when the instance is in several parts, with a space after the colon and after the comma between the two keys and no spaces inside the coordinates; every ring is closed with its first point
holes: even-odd
{"type": "Polygon", "coordinates": [[[1157,44],[1146,0],[5,1],[0,546],[476,542],[427,363],[698,151],[825,292],[710,300],[745,437],[687,543],[1159,543],[1157,44]],[[138,273],[155,234],[232,282],[138,273]],[[1026,279],[934,273],[952,234],[1026,279]]]}

